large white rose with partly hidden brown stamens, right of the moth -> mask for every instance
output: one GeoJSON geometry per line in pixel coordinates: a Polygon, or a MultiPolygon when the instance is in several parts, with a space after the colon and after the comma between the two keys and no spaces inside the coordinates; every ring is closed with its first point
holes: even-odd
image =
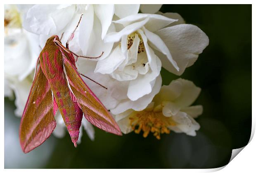
{"type": "Polygon", "coordinates": [[[119,81],[115,91],[121,91],[121,99],[111,109],[113,114],[145,109],[160,90],[161,66],[181,75],[208,45],[207,35],[197,26],[180,24],[184,20],[178,14],[164,15],[127,16],[114,21],[123,28],[104,38],[116,46],[107,58],[97,62],[95,72],[109,74],[119,81]]]}

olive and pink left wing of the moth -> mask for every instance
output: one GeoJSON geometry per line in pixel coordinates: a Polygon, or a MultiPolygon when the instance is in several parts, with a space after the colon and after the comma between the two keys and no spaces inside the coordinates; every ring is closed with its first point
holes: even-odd
{"type": "Polygon", "coordinates": [[[49,138],[56,126],[54,115],[57,109],[50,85],[39,67],[21,117],[19,139],[24,153],[49,138]]]}

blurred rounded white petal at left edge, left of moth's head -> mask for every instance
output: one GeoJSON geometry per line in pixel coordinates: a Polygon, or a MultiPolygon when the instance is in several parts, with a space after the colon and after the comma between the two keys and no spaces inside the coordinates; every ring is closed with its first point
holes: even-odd
{"type": "Polygon", "coordinates": [[[36,42],[37,35],[21,30],[5,36],[5,74],[17,76],[21,81],[33,71],[40,53],[36,42]]]}

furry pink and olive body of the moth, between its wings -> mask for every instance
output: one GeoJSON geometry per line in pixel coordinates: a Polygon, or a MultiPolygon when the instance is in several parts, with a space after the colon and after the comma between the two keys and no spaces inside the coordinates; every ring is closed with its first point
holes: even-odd
{"type": "Polygon", "coordinates": [[[57,38],[57,36],[52,36],[47,40],[40,54],[40,64],[45,77],[49,81],[55,101],[71,136],[71,140],[76,146],[83,112],[69,89],[63,69],[63,54],[54,43],[55,38],[57,38]]]}

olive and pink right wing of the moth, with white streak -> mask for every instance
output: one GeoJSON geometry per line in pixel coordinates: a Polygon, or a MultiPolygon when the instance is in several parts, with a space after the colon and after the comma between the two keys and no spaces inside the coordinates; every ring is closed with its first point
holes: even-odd
{"type": "Polygon", "coordinates": [[[85,84],[76,68],[71,64],[66,56],[63,56],[63,62],[69,85],[81,109],[83,110],[85,118],[93,125],[104,131],[114,133],[116,135],[122,135],[119,126],[116,124],[112,115],[85,84]]]}

